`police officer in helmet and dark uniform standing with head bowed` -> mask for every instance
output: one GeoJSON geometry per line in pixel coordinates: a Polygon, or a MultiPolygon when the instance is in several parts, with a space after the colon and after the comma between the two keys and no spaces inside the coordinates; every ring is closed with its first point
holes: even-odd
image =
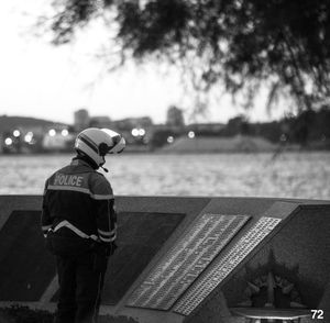
{"type": "Polygon", "coordinates": [[[56,256],[56,323],[97,321],[108,257],[116,249],[117,215],[111,186],[96,170],[103,168],[107,154],[124,147],[117,132],[86,129],[76,138],[70,165],[46,180],[41,222],[56,256]]]}

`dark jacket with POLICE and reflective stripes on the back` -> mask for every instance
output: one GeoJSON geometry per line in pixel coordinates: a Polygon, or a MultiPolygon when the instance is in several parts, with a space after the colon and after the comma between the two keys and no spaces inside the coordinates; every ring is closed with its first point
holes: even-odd
{"type": "Polygon", "coordinates": [[[109,181],[86,162],[74,158],[46,180],[41,222],[44,235],[51,229],[67,227],[80,237],[113,242],[117,215],[109,181]]]}

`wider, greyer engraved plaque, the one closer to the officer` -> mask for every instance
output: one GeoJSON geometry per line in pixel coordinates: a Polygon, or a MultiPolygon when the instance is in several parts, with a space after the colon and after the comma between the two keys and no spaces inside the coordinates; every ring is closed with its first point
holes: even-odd
{"type": "Polygon", "coordinates": [[[170,309],[249,218],[204,214],[196,219],[133,291],[128,305],[170,309]]]}

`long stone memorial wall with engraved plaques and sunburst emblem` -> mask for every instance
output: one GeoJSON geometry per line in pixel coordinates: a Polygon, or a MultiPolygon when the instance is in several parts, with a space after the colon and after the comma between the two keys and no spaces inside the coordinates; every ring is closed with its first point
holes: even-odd
{"type": "MultiPolygon", "coordinates": [[[[315,322],[314,314],[330,322],[329,201],[118,197],[117,209],[102,314],[141,323],[315,322]]],[[[41,197],[0,197],[1,307],[56,307],[40,215],[41,197]]]]}

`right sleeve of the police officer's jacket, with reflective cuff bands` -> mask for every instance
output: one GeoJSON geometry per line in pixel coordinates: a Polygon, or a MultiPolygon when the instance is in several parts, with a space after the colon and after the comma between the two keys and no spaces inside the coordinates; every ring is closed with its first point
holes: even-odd
{"type": "Polygon", "coordinates": [[[98,175],[92,181],[91,191],[96,204],[99,238],[103,243],[112,243],[117,238],[117,213],[112,188],[102,175],[98,175]]]}

